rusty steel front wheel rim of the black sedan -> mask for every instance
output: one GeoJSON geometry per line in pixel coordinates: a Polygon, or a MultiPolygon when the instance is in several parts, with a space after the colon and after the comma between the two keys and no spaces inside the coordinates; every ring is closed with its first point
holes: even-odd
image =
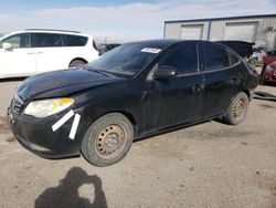
{"type": "Polygon", "coordinates": [[[96,150],[100,156],[117,155],[125,143],[125,134],[119,125],[108,125],[98,135],[96,150]]]}

